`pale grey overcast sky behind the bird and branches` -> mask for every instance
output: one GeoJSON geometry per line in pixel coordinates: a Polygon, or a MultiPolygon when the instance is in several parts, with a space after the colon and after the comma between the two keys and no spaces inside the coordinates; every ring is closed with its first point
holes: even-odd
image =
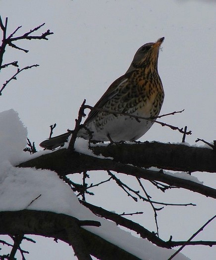
{"type": "MultiPolygon", "coordinates": [[[[193,132],[186,137],[190,144],[197,138],[211,142],[216,139],[215,7],[215,1],[204,0],[44,0],[41,3],[0,0],[2,19],[8,17],[8,34],[19,25],[23,27],[17,35],[43,22],[46,26],[41,32],[47,29],[54,32],[49,41],[20,42],[18,46],[27,48],[27,54],[7,48],[5,63],[19,60],[20,67],[36,63],[40,67],[24,71],[6,87],[0,97],[0,111],[10,108],[18,111],[28,128],[28,137],[39,148],[38,144],[49,136],[51,124],[57,123],[56,135],[72,129],[83,100],[94,105],[127,70],[140,46],[164,36],[159,56],[165,91],[161,113],[185,109],[184,113],[164,121],[179,127],[187,125],[193,132]]],[[[12,67],[2,70],[0,84],[14,72],[12,67]]],[[[141,140],[180,142],[181,139],[179,133],[155,124],[141,140]]],[[[214,183],[213,174],[194,175],[206,185],[214,183]]],[[[130,177],[118,176],[132,182],[130,177]]],[[[106,178],[106,173],[92,173],[89,183],[106,178]]],[[[184,190],[161,194],[147,182],[145,185],[154,200],[198,204],[196,208],[167,207],[159,212],[160,234],[165,240],[170,235],[174,240],[188,239],[215,214],[212,199],[184,190]]],[[[115,185],[111,190],[109,187],[111,192],[107,196],[108,187],[95,190],[96,196],[87,198],[89,202],[119,213],[144,210],[145,214],[133,219],[155,230],[149,206],[135,204],[115,185]]],[[[211,223],[197,239],[215,240],[215,228],[216,224],[211,223]]],[[[34,251],[41,250],[43,245],[45,242],[33,245],[32,260],[34,251]]],[[[182,252],[192,260],[213,260],[216,248],[186,247],[182,252]]]]}

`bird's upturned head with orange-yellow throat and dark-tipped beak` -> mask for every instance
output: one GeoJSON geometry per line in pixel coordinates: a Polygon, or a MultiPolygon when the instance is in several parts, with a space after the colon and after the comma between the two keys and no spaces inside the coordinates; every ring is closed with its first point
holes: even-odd
{"type": "Polygon", "coordinates": [[[132,63],[127,72],[130,72],[137,68],[146,67],[152,67],[153,69],[157,69],[159,49],[162,45],[163,40],[164,37],[160,38],[155,43],[147,43],[141,46],[135,53],[132,63]]]}

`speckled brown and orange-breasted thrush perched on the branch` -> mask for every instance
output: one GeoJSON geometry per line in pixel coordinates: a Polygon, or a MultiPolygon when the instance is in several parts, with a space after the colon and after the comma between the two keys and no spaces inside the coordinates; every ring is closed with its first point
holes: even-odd
{"type": "MultiPolygon", "coordinates": [[[[94,142],[132,142],[150,129],[154,121],[130,115],[153,118],[160,113],[164,91],[158,73],[158,56],[163,40],[164,37],[138,49],[125,74],[116,79],[95,104],[98,110],[93,108],[89,112],[77,137],[94,142]]],[[[49,150],[63,146],[71,133],[49,138],[40,146],[49,150]]]]}

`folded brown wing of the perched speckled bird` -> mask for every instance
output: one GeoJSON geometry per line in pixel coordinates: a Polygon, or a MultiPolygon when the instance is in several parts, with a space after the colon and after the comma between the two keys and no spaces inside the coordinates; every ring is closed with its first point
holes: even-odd
{"type": "MultiPolygon", "coordinates": [[[[125,87],[128,83],[128,78],[133,73],[133,71],[124,74],[123,76],[116,79],[109,87],[108,90],[104,93],[104,95],[100,98],[100,100],[94,105],[95,108],[103,108],[104,105],[112,99],[115,95],[118,94],[118,90],[121,87],[125,87]]],[[[88,124],[89,122],[93,121],[94,118],[97,116],[99,111],[92,109],[86,118],[84,125],[88,124]]]]}

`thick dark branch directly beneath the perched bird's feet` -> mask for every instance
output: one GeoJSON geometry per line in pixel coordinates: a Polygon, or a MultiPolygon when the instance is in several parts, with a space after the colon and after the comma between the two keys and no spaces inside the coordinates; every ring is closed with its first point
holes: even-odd
{"type": "Polygon", "coordinates": [[[216,153],[208,148],[145,142],[132,145],[96,146],[92,149],[96,155],[113,157],[115,161],[139,167],[155,166],[176,171],[216,172],[216,153]]]}

